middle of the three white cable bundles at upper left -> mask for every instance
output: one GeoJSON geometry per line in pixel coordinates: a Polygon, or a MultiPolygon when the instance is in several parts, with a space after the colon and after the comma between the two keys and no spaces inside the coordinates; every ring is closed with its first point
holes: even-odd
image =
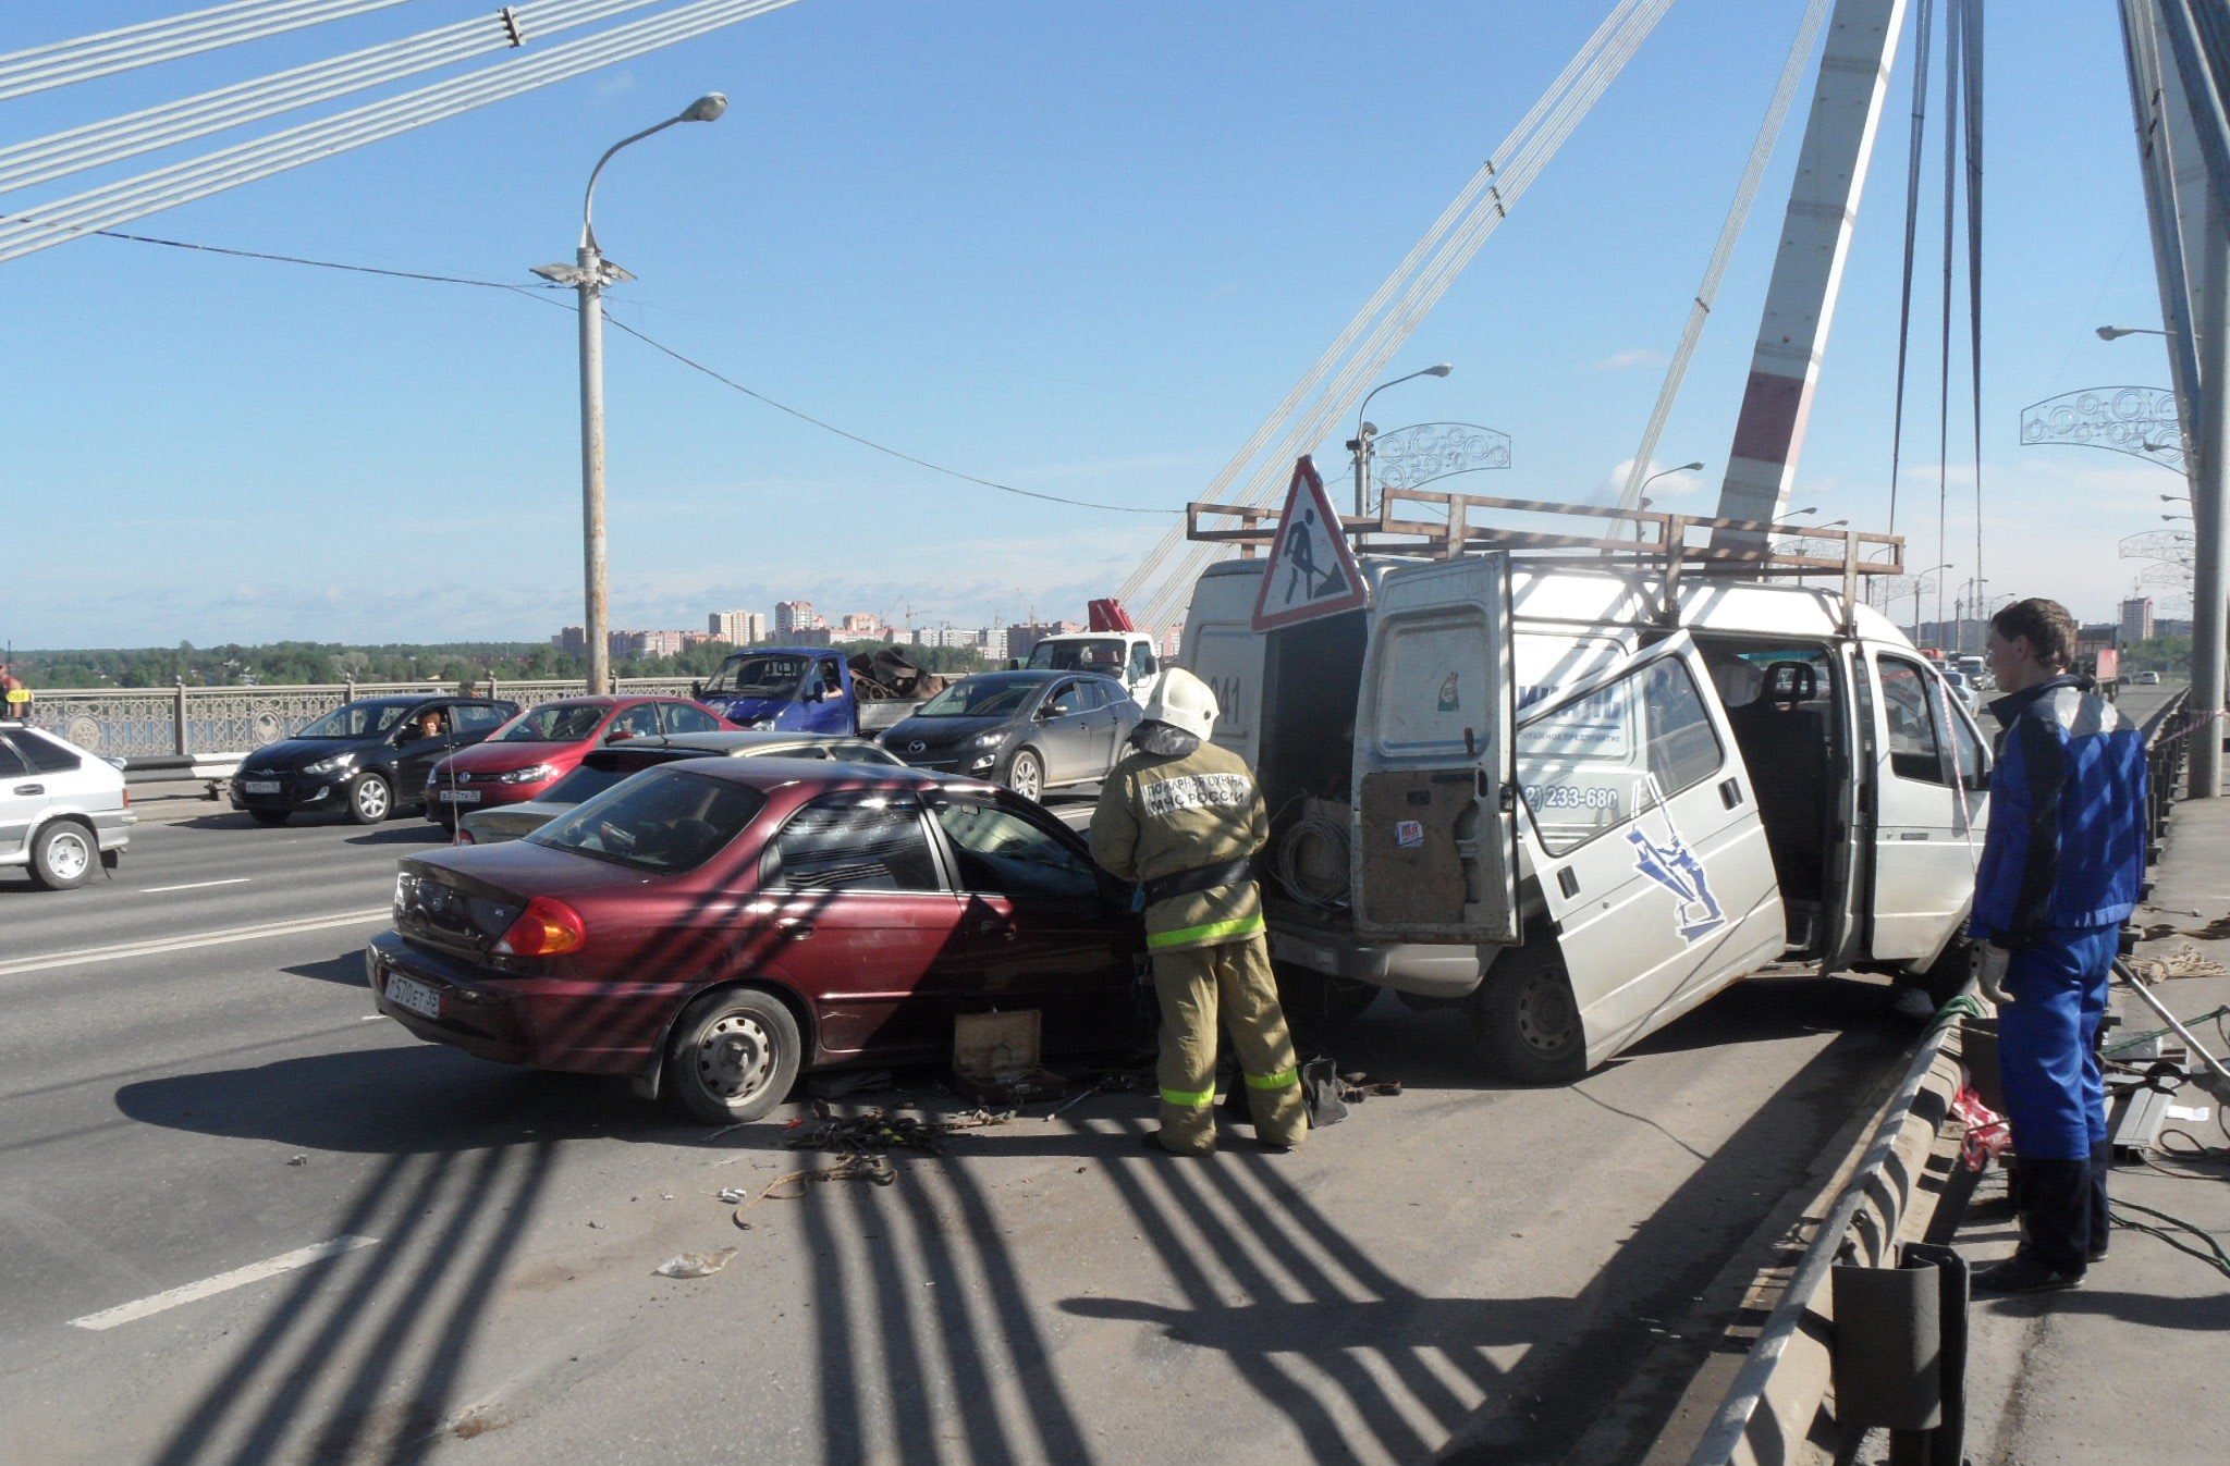
{"type": "Polygon", "coordinates": [[[513,4],[471,20],[444,25],[404,40],[388,40],[346,56],[308,62],[288,71],[219,87],[161,107],[87,123],[13,147],[0,147],[0,192],[51,183],[89,167],[105,167],[192,143],[227,127],[261,123],[283,111],[310,107],[350,91],[363,91],[406,76],[433,71],[473,56],[517,49],[524,38],[553,36],[656,0],[551,0],[513,4]]]}

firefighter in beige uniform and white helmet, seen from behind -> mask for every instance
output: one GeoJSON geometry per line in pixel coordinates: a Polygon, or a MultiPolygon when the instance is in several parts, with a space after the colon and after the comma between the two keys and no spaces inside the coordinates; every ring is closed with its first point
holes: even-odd
{"type": "Polygon", "coordinates": [[[1215,693],[1184,668],[1162,673],[1093,811],[1093,858],[1146,896],[1162,1000],[1162,1130],[1146,1143],[1184,1156],[1215,1150],[1218,1011],[1240,1054],[1255,1136],[1282,1147],[1309,1134],[1249,867],[1269,840],[1269,815],[1247,760],[1211,744],[1213,729],[1215,693]]]}

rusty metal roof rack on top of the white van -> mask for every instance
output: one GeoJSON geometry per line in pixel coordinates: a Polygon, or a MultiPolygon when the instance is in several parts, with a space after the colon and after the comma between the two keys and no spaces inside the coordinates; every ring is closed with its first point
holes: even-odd
{"type": "MultiPolygon", "coordinates": [[[[1552,499],[1496,499],[1452,495],[1432,488],[1387,488],[1376,515],[1340,515],[1358,555],[1425,555],[1456,559],[1472,550],[1514,550],[1530,564],[1568,568],[1644,570],[1672,584],[1681,575],[1728,575],[1766,579],[1788,575],[1840,575],[1844,599],[1855,602],[1862,575],[1902,575],[1904,537],[1849,528],[1809,528],[1766,519],[1713,519],[1644,508],[1557,504],[1552,499]],[[1559,515],[1606,521],[1599,532],[1514,530],[1478,521],[1478,510],[1499,515],[1559,515]],[[1724,530],[1724,532],[1722,532],[1724,530]],[[1693,544],[1706,532],[1706,544],[1693,544]],[[1775,546],[1775,537],[1802,541],[1775,546]],[[1813,553],[1822,546],[1826,553],[1813,553]]],[[[1579,526],[1574,526],[1579,528],[1579,526]]],[[[1235,544],[1251,559],[1278,535],[1278,508],[1262,504],[1184,506],[1184,537],[1204,544],[1235,544]],[[1204,524],[1209,519],[1235,524],[1204,524]]]]}

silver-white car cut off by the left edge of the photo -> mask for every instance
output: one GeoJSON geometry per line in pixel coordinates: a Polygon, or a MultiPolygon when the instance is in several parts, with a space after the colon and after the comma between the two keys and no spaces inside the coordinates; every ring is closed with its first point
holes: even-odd
{"type": "Polygon", "coordinates": [[[20,722],[0,722],[0,867],[27,864],[49,891],[83,887],[132,840],[116,764],[20,722]]]}

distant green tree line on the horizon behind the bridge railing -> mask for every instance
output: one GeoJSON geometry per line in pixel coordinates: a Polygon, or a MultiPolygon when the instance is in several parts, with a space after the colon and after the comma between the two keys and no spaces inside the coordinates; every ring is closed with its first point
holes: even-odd
{"type": "MultiPolygon", "coordinates": [[[[843,642],[836,651],[874,653],[881,642],[843,642]]],[[[673,657],[622,657],[613,677],[709,677],[736,648],[702,642],[673,657]]],[[[983,671],[988,662],[968,646],[901,646],[914,666],[934,673],[983,671]]],[[[270,642],[263,646],[136,646],[16,651],[9,666],[33,688],[83,686],[301,686],[334,682],[578,682],[584,657],[569,657],[546,642],[442,642],[384,646],[341,642],[270,642]]]]}

